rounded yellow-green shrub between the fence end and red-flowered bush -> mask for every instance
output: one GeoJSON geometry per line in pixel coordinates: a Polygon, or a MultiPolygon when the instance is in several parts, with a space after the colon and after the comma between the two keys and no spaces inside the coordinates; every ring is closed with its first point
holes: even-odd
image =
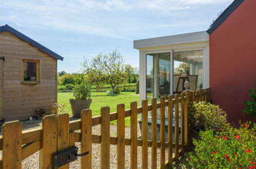
{"type": "Polygon", "coordinates": [[[193,103],[190,107],[191,119],[196,131],[212,129],[218,131],[227,123],[227,114],[219,105],[208,102],[193,103]]]}

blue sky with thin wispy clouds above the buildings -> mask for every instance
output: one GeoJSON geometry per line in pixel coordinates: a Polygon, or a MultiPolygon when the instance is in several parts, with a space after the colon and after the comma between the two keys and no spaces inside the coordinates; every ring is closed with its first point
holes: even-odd
{"type": "Polygon", "coordinates": [[[58,71],[81,70],[83,57],[117,49],[139,67],[133,40],[207,30],[232,0],[0,0],[8,24],[64,57],[58,71]]]}

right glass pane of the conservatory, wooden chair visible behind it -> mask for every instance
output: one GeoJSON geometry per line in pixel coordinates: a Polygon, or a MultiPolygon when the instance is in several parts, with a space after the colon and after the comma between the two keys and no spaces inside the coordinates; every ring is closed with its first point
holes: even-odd
{"type": "Polygon", "coordinates": [[[185,90],[185,81],[190,90],[203,88],[203,50],[173,52],[173,67],[173,94],[185,90]]]}

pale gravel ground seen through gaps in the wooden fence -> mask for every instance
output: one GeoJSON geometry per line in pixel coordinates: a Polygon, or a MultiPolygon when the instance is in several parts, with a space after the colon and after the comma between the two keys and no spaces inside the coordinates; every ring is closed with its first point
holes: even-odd
{"type": "MultiPolygon", "coordinates": [[[[70,121],[75,120],[75,118],[70,118],[70,121]]],[[[41,128],[42,120],[31,120],[31,121],[22,121],[23,123],[23,130],[29,130],[34,128],[41,128]]],[[[148,137],[149,140],[151,139],[151,128],[148,127],[148,137]]],[[[0,135],[2,135],[2,126],[0,126],[0,135]]],[[[167,131],[167,129],[166,129],[167,131]]],[[[93,126],[92,133],[100,135],[101,133],[101,125],[93,126]]],[[[116,125],[110,125],[110,135],[116,136],[116,125]]],[[[138,125],[137,129],[138,138],[141,139],[141,127],[138,125]]],[[[159,128],[158,128],[158,140],[160,138],[159,128]]],[[[174,134],[173,134],[174,135],[174,134]]],[[[125,137],[130,138],[130,128],[125,128],[125,137]]],[[[166,134],[167,140],[167,134],[166,134]]],[[[78,147],[78,152],[80,152],[80,143],[76,143],[78,147]]],[[[141,146],[137,147],[137,164],[138,168],[141,168],[141,160],[142,160],[142,152],[141,146]]],[[[168,152],[166,150],[166,159],[167,159],[168,152]]],[[[39,152],[34,153],[30,157],[26,158],[22,161],[22,168],[38,168],[39,162],[39,152]]],[[[0,157],[2,157],[2,151],[0,151],[0,157]]],[[[130,146],[125,146],[125,168],[130,168],[130,146]]],[[[160,165],[160,149],[157,149],[157,166],[160,165]]],[[[101,167],[101,144],[92,144],[92,166],[93,168],[100,168],[101,167]]],[[[78,160],[73,161],[70,163],[70,168],[80,168],[80,158],[78,160]]],[[[116,145],[110,145],[110,168],[116,168],[116,145]]],[[[151,147],[148,149],[148,168],[151,168],[151,147]]]]}

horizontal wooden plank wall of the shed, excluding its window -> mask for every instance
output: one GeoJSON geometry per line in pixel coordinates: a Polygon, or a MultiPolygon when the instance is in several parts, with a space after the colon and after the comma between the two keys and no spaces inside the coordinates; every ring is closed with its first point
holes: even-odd
{"type": "Polygon", "coordinates": [[[57,102],[57,60],[19,39],[10,32],[0,32],[0,57],[3,61],[3,118],[23,120],[43,108],[54,113],[57,102]],[[40,60],[40,83],[21,83],[21,58],[40,60]]]}

